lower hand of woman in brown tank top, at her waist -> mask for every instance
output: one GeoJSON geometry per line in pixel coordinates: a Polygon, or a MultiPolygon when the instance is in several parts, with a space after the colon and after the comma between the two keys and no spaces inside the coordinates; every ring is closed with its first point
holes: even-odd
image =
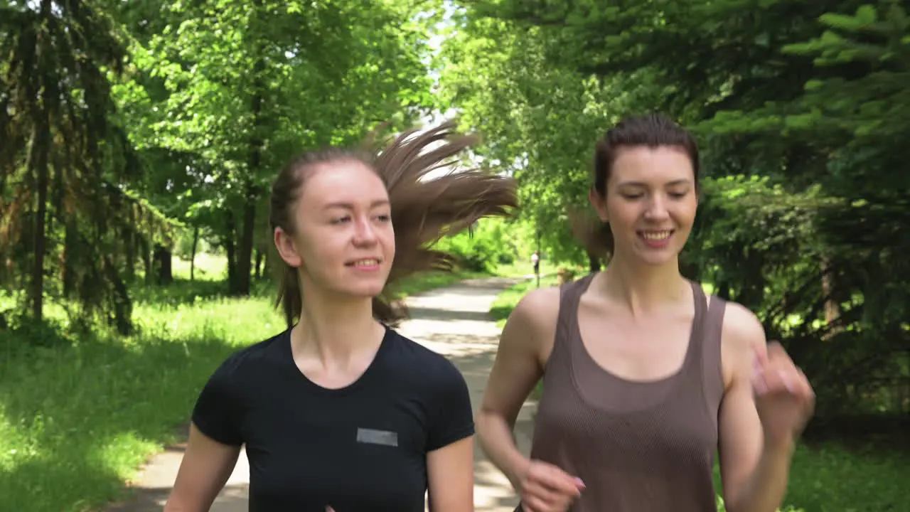
{"type": "Polygon", "coordinates": [[[557,466],[531,460],[521,476],[521,508],[524,512],[565,512],[582,490],[581,478],[557,466]]]}

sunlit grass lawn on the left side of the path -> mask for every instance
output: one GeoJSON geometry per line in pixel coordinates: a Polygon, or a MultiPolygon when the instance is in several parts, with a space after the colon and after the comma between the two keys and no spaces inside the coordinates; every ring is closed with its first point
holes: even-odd
{"type": "MultiPolygon", "coordinates": [[[[223,265],[202,256],[188,282],[188,263],[175,258],[177,282],[137,287],[130,337],[73,332],[55,307],[56,327],[0,331],[0,510],[83,512],[121,496],[136,468],[174,440],[217,364],[285,328],[274,286],[225,297],[223,265]]],[[[422,276],[399,290],[474,275],[422,276]]]]}

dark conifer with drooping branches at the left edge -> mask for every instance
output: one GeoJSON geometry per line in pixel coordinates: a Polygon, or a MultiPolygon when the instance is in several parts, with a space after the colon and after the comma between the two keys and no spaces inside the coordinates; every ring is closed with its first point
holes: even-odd
{"type": "Polygon", "coordinates": [[[120,259],[177,225],[135,193],[136,155],[107,78],[122,69],[121,34],[92,1],[0,12],[0,285],[27,291],[35,321],[45,295],[76,298],[128,333],[120,259]]]}

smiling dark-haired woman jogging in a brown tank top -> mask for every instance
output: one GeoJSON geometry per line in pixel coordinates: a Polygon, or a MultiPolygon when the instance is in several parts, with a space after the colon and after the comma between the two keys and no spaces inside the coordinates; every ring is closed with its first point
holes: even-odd
{"type": "Polygon", "coordinates": [[[591,233],[610,264],[522,299],[477,415],[519,510],[713,511],[715,449],[728,511],[780,506],[814,394],[752,312],[680,274],[698,171],[693,137],[662,116],[597,145],[591,233]],[[541,376],[529,459],[511,430],[541,376]]]}

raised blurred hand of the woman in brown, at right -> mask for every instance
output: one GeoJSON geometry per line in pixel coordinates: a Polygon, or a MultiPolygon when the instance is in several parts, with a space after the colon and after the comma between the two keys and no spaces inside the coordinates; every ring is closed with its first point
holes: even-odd
{"type": "Polygon", "coordinates": [[[767,353],[755,353],[752,384],[765,443],[793,445],[812,416],[815,394],[781,343],[768,343],[767,353]]]}

